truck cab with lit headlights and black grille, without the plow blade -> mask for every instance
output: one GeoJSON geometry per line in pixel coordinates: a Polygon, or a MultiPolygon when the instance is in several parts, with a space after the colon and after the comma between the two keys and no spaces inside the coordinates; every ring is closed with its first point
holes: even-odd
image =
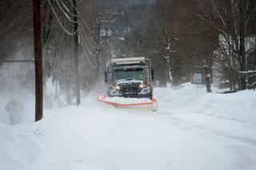
{"type": "Polygon", "coordinates": [[[152,98],[154,69],[145,57],[112,58],[106,64],[108,97],[152,98]]]}

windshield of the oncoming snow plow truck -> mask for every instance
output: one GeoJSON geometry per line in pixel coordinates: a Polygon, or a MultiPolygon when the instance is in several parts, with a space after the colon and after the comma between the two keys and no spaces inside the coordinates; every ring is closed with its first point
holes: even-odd
{"type": "Polygon", "coordinates": [[[114,69],[114,81],[119,79],[137,79],[145,80],[146,75],[144,69],[114,69]]]}

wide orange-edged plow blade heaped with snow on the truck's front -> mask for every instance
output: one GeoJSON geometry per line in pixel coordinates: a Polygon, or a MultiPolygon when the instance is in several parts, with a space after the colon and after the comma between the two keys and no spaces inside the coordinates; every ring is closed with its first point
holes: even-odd
{"type": "Polygon", "coordinates": [[[150,111],[156,111],[158,109],[158,101],[154,97],[152,97],[152,100],[148,98],[107,97],[101,95],[97,95],[97,97],[98,101],[114,105],[119,108],[150,111]]]}

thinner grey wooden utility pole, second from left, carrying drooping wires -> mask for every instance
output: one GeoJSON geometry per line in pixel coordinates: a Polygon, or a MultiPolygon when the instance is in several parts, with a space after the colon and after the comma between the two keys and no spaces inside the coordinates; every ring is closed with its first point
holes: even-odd
{"type": "MultiPolygon", "coordinates": [[[[74,4],[74,31],[78,30],[78,11],[77,2],[73,0],[74,4]]],[[[75,93],[76,93],[76,101],[77,106],[81,104],[80,101],[80,80],[79,80],[79,73],[78,73],[78,32],[74,34],[74,72],[75,72],[75,93]]]]}

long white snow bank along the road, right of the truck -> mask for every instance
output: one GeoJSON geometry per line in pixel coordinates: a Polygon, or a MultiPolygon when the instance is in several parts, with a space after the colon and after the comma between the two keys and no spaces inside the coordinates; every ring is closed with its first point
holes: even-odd
{"type": "Polygon", "coordinates": [[[183,111],[256,123],[256,91],[206,93],[206,88],[186,83],[177,89],[156,88],[160,113],[183,111]]]}

